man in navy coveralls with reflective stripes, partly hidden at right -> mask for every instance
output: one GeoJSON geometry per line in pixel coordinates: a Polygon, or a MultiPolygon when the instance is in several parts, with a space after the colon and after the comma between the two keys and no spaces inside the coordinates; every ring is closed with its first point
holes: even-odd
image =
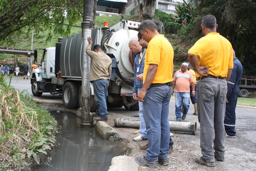
{"type": "Polygon", "coordinates": [[[236,58],[235,51],[233,49],[233,63],[231,77],[228,81],[228,92],[226,100],[226,115],[224,119],[224,126],[226,131],[226,137],[236,137],[235,124],[236,124],[236,105],[237,98],[239,96],[239,86],[241,82],[243,68],[241,62],[236,58]]]}

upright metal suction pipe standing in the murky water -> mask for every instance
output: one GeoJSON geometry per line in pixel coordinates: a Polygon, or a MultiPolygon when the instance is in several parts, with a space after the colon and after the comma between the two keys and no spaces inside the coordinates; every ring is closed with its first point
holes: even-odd
{"type": "Polygon", "coordinates": [[[89,45],[87,40],[91,37],[92,33],[92,14],[93,14],[94,0],[83,1],[83,22],[82,22],[82,38],[83,38],[83,51],[82,51],[82,113],[81,113],[81,127],[92,126],[90,124],[90,108],[91,108],[91,93],[90,93],[90,67],[91,59],[86,54],[86,47],[89,45]]]}

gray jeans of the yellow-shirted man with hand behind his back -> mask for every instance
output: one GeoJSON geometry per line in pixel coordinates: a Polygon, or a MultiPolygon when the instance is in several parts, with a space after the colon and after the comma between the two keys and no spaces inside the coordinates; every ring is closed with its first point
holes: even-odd
{"type": "Polygon", "coordinates": [[[212,162],[214,155],[224,157],[225,154],[227,81],[216,78],[199,79],[196,94],[202,157],[212,162]]]}

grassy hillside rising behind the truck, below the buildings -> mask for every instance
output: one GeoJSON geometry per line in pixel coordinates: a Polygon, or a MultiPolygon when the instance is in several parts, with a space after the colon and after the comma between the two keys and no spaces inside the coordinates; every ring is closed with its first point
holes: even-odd
{"type": "MultiPolygon", "coordinates": [[[[158,11],[159,13],[160,11],[158,11]]],[[[161,15],[164,13],[156,13],[156,19],[159,20],[165,20],[164,18],[161,18],[161,15]],[[160,18],[159,18],[160,16],[160,18]]],[[[165,13],[166,14],[166,13],[165,13]]],[[[167,16],[169,17],[169,16],[167,16]]],[[[138,21],[137,16],[124,16],[127,20],[136,20],[138,21]]],[[[96,27],[103,27],[103,22],[108,21],[109,26],[113,26],[116,23],[119,23],[121,19],[121,16],[112,16],[109,17],[107,15],[103,16],[97,16],[96,17],[96,22],[95,25],[96,27]]],[[[166,20],[165,20],[166,21],[166,20]]],[[[77,26],[81,26],[81,20],[76,22],[77,26]]],[[[140,22],[140,21],[138,21],[140,22]]],[[[176,24],[176,23],[174,23],[176,24]]],[[[174,65],[175,65],[175,71],[179,69],[179,66],[182,62],[188,62],[187,59],[187,51],[188,49],[193,45],[190,42],[184,41],[182,37],[180,37],[177,34],[172,34],[172,33],[177,33],[177,32],[170,32],[170,27],[167,26],[166,28],[166,37],[170,41],[170,43],[173,46],[174,49],[174,65]]],[[[81,28],[79,27],[72,27],[70,35],[81,33],[81,28]]],[[[55,43],[57,42],[57,39],[59,37],[65,37],[64,35],[60,34],[54,34],[54,33],[49,33],[48,29],[44,29],[44,31],[37,32],[34,30],[34,42],[33,42],[33,49],[40,49],[40,48],[48,48],[48,47],[55,47],[55,43]],[[50,41],[47,41],[47,35],[52,34],[52,39],[50,41]]],[[[19,37],[11,37],[12,39],[15,40],[15,44],[12,45],[7,45],[3,44],[0,45],[0,47],[8,47],[8,48],[16,48],[16,49],[30,49],[31,48],[31,32],[27,32],[27,30],[24,30],[24,34],[20,35],[19,37]]],[[[41,54],[38,54],[38,57],[40,59],[41,54]]],[[[22,62],[27,60],[26,56],[14,56],[14,55],[5,55],[5,54],[0,54],[0,62],[2,63],[17,63],[21,64],[22,62]],[[8,56],[8,57],[7,57],[8,56]],[[14,62],[14,57],[15,57],[15,62],[14,62]]]]}

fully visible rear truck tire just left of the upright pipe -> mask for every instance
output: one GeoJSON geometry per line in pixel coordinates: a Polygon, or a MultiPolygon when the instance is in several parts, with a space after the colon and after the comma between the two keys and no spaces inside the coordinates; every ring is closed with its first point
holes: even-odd
{"type": "Polygon", "coordinates": [[[73,82],[66,82],[63,86],[62,101],[65,108],[73,109],[78,102],[77,86],[73,82]]]}

